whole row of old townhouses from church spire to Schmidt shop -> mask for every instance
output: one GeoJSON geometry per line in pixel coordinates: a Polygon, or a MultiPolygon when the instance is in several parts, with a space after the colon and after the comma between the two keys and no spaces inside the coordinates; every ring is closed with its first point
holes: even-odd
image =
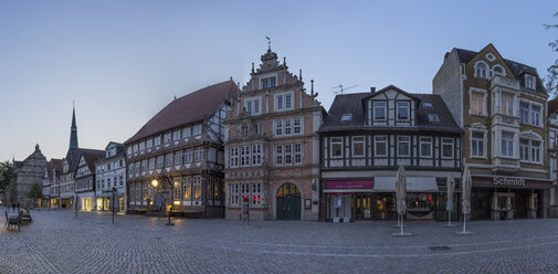
{"type": "MultiPolygon", "coordinates": [[[[408,176],[407,219],[445,220],[446,179],[472,170],[473,220],[555,217],[558,101],[537,71],[453,49],[432,94],[393,85],[337,95],[329,112],[271,49],[232,78],[173,99],[123,145],[77,148],[45,177],[52,205],[240,220],[389,220],[408,176]],[[55,170],[55,171],[54,171],[55,170]],[[60,176],[53,176],[60,175],[60,176]],[[113,192],[116,199],[112,198],[113,192]]],[[[74,144],[75,143],[75,144],[74,144]]],[[[72,145],[74,144],[74,145],[72,145]]],[[[451,214],[461,219],[460,183],[451,214]]]]}

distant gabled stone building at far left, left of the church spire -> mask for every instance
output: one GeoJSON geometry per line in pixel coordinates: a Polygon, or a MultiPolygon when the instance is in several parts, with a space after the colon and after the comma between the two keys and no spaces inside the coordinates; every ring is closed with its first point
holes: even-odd
{"type": "Polygon", "coordinates": [[[44,168],[46,166],[46,158],[41,152],[41,149],[39,149],[39,145],[35,146],[35,151],[33,151],[24,160],[13,160],[14,178],[12,183],[10,183],[7,204],[15,203],[34,207],[35,199],[29,198],[28,193],[33,183],[42,186],[44,168]]]}

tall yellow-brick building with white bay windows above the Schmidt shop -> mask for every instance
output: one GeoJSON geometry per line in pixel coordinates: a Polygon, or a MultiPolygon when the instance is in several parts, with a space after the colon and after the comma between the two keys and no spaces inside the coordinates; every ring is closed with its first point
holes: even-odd
{"type": "Polygon", "coordinates": [[[472,219],[546,218],[547,93],[536,68],[504,59],[494,45],[453,49],[433,80],[463,129],[473,177],[472,219]]]}

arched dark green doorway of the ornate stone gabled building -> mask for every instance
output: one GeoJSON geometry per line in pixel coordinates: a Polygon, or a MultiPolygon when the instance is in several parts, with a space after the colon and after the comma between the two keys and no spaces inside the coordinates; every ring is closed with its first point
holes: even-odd
{"type": "Polygon", "coordinates": [[[301,220],[301,190],[285,183],[277,190],[277,220],[301,220]]]}

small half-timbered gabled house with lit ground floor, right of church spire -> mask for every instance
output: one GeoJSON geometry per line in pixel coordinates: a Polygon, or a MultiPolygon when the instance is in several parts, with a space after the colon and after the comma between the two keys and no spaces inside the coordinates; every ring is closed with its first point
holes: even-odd
{"type": "Polygon", "coordinates": [[[105,157],[105,150],[84,150],[80,156],[75,171],[75,197],[77,207],[83,211],[95,209],[95,162],[105,157]]]}

